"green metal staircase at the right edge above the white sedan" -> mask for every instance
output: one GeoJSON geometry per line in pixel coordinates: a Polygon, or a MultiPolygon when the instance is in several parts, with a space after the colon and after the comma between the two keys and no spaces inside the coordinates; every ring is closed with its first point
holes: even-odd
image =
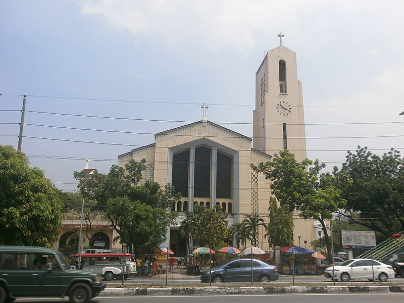
{"type": "Polygon", "coordinates": [[[404,250],[404,231],[399,232],[402,237],[398,240],[394,240],[393,238],[388,238],[384,240],[380,244],[376,245],[372,249],[369,249],[364,254],[360,255],[357,258],[361,259],[374,259],[380,262],[384,262],[391,255],[404,250]]]}

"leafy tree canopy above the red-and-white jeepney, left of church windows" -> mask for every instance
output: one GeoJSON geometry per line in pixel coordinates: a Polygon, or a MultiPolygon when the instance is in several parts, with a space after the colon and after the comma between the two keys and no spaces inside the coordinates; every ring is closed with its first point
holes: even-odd
{"type": "Polygon", "coordinates": [[[112,165],[105,175],[96,170],[89,175],[74,172],[81,194],[96,201],[94,209],[105,212],[118,233],[118,238],[130,251],[133,247],[159,245],[166,239],[167,227],[176,213],[171,213],[172,200],[179,199],[174,187],[146,181],[137,185],[145,169],[145,160],[131,160],[124,167],[112,165]]]}

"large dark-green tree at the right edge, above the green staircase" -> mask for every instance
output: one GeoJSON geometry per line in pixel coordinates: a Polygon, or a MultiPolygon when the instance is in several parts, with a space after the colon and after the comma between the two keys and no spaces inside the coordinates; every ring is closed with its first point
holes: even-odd
{"type": "Polygon", "coordinates": [[[404,160],[398,150],[379,157],[358,146],[334,175],[347,201],[340,215],[385,238],[404,230],[404,160]]]}

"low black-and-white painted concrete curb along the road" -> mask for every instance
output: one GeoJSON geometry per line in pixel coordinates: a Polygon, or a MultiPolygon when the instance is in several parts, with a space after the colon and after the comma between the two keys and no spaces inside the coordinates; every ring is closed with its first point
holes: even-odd
{"type": "Polygon", "coordinates": [[[404,286],[285,286],[285,287],[149,287],[106,288],[102,296],[132,295],[208,295],[275,293],[404,293],[404,286]]]}

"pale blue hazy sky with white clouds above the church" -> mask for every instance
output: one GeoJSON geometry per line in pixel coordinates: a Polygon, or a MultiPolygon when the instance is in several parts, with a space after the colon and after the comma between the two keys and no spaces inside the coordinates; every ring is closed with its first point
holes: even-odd
{"type": "Polygon", "coordinates": [[[255,73],[297,54],[307,156],[340,166],[358,145],[404,149],[402,1],[0,1],[0,145],[55,185],[108,173],[154,134],[208,120],[252,137],[255,73]],[[92,116],[92,117],[89,117],[92,116]]]}

